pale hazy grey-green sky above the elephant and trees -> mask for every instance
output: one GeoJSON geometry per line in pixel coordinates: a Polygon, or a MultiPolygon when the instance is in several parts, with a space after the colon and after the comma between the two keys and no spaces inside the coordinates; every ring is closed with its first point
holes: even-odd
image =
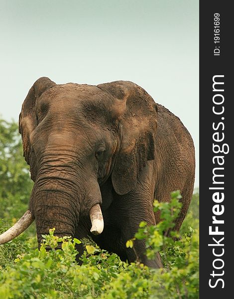
{"type": "Polygon", "coordinates": [[[196,148],[199,0],[0,0],[0,116],[17,120],[41,76],[130,80],[177,115],[196,148]]]}

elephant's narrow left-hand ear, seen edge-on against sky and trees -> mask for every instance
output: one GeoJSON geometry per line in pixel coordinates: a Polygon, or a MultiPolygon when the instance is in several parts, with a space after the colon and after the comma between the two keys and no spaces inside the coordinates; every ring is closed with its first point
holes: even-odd
{"type": "Polygon", "coordinates": [[[38,124],[36,102],[43,92],[54,85],[55,83],[47,77],[39,78],[30,88],[19,114],[19,133],[22,137],[23,155],[25,161],[30,165],[30,173],[33,181],[36,179],[37,168],[34,151],[30,143],[30,135],[38,124]]]}

